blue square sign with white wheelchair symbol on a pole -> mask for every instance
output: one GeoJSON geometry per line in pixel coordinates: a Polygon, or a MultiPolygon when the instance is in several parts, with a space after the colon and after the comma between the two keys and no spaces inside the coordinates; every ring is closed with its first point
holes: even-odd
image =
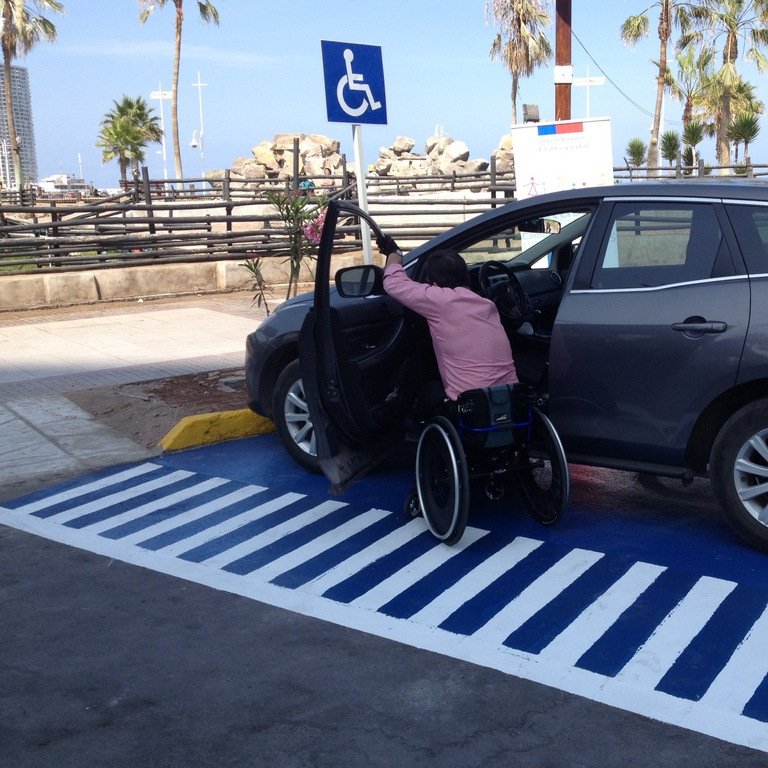
{"type": "Polygon", "coordinates": [[[325,104],[331,123],[386,125],[381,46],[321,40],[325,104]]]}

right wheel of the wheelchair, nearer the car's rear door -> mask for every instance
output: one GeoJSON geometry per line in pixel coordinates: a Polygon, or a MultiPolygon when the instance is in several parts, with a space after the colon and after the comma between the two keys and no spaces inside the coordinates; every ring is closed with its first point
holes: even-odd
{"type": "Polygon", "coordinates": [[[528,465],[521,468],[519,481],[528,512],[540,523],[552,525],[563,516],[571,481],[560,437],[538,408],[531,413],[526,461],[528,465]]]}

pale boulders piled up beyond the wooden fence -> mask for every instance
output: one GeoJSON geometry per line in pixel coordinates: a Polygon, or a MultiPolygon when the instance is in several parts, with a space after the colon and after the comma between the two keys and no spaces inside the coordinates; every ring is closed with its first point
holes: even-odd
{"type": "MultiPolygon", "coordinates": [[[[294,142],[298,139],[299,175],[310,178],[323,176],[329,169],[333,176],[341,173],[344,160],[340,142],[315,133],[278,133],[272,141],[266,140],[251,150],[250,157],[236,158],[230,168],[233,179],[253,180],[285,179],[294,172],[294,142]]],[[[413,176],[453,176],[488,170],[488,160],[470,158],[469,147],[450,136],[431,136],[423,154],[413,151],[416,142],[407,136],[398,136],[389,147],[382,147],[373,164],[373,172],[380,177],[405,178],[413,176]]],[[[512,170],[512,143],[510,136],[502,136],[494,151],[496,167],[500,172],[512,170]]],[[[211,171],[210,179],[221,178],[222,171],[211,171]]]]}

